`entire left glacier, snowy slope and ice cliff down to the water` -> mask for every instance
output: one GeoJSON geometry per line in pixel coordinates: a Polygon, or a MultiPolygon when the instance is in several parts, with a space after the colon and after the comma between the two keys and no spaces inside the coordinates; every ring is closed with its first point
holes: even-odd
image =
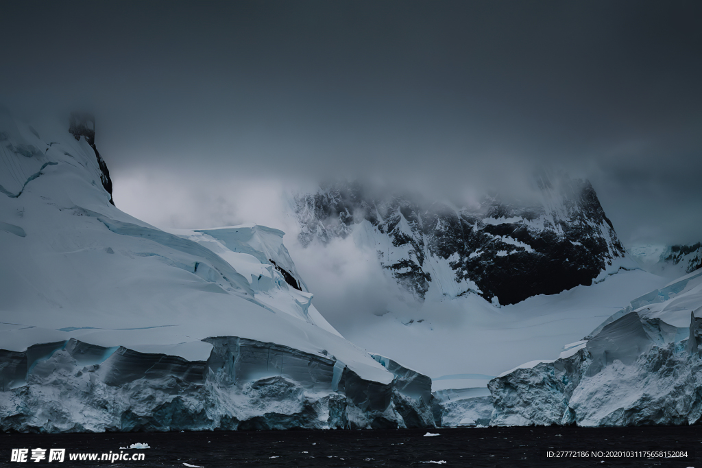
{"type": "Polygon", "coordinates": [[[433,424],[420,377],[324,320],[281,231],[120,212],[94,136],[0,119],[0,429],[433,424]]]}

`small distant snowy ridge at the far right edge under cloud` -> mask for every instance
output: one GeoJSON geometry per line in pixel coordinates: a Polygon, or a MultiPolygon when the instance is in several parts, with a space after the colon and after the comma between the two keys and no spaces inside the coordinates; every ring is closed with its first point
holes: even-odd
{"type": "Polygon", "coordinates": [[[702,242],[693,245],[636,245],[631,257],[646,271],[678,278],[702,268],[702,242]]]}

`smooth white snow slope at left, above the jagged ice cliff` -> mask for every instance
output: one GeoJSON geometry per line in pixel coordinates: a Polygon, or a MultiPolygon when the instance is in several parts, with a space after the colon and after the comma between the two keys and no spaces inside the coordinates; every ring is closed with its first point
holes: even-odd
{"type": "Polygon", "coordinates": [[[328,354],[364,379],[392,381],[324,320],[301,278],[295,290],[269,262],[296,275],[282,231],[159,230],[108,203],[92,148],[67,126],[37,137],[0,123],[2,349],[77,338],[205,360],[211,344],[201,339],[236,336],[328,354]]]}

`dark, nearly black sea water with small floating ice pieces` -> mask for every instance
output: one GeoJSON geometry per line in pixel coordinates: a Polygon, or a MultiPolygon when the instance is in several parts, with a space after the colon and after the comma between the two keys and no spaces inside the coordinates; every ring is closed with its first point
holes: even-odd
{"type": "Polygon", "coordinates": [[[699,426],[0,434],[0,466],[702,468],[698,449],[702,449],[699,426]],[[428,432],[439,435],[425,436],[428,432]],[[150,448],[120,450],[132,443],[147,443],[150,448]],[[27,462],[11,461],[12,449],[18,448],[29,449],[27,462]],[[47,455],[48,449],[64,448],[65,461],[32,462],[29,457],[35,448],[47,449],[47,455]],[[649,457],[643,453],[647,451],[686,456],[649,457]],[[110,452],[143,453],[144,460],[69,460],[71,454],[110,452]],[[578,456],[569,456],[572,452],[578,456]]]}

